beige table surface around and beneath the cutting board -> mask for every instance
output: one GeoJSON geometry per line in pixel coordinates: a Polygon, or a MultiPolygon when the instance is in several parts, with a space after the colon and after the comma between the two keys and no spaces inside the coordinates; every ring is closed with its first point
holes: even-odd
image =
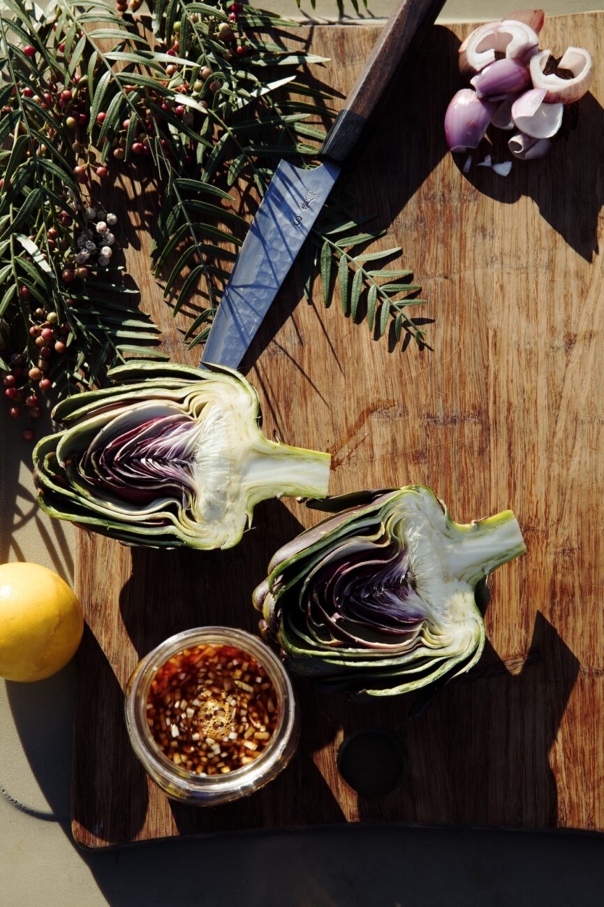
{"type": "MultiPolygon", "coordinates": [[[[299,15],[295,0],[258,5],[299,15]]],[[[385,17],[392,5],[371,0],[371,15],[385,17]]],[[[449,0],[439,21],[495,19],[504,7],[449,0]]],[[[556,15],[593,4],[550,0],[545,9],[556,15]]],[[[335,14],[336,0],[317,0],[315,18],[335,14]]],[[[71,580],[72,527],[37,509],[31,447],[4,416],[0,407],[0,562],[37,561],[71,580]]],[[[0,680],[0,907],[604,902],[600,836],[345,828],[82,853],[70,831],[73,683],[72,665],[37,684],[0,680]]]]}

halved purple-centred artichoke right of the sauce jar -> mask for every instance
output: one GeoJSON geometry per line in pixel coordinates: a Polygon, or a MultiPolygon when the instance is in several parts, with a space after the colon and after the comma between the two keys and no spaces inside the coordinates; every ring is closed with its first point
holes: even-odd
{"type": "Polygon", "coordinates": [[[472,668],[484,646],[476,586],[526,551],[513,513],[453,522],[419,485],[326,504],[336,515],[281,548],[253,595],[289,666],[369,696],[472,668]]]}

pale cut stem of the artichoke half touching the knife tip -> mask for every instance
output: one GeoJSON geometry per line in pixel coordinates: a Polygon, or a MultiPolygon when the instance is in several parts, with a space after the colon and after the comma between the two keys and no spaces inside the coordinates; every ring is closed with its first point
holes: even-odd
{"type": "Polygon", "coordinates": [[[329,483],[328,453],[277,444],[262,436],[249,451],[243,473],[248,505],[268,498],[294,495],[325,498],[329,483]]]}

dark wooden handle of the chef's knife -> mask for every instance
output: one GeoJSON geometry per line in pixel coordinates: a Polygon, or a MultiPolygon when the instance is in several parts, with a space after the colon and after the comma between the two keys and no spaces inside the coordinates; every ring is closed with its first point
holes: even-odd
{"type": "Polygon", "coordinates": [[[343,109],[327,133],[319,157],[341,167],[350,163],[365,127],[382,101],[410,45],[434,23],[444,0],[399,0],[343,109]]]}

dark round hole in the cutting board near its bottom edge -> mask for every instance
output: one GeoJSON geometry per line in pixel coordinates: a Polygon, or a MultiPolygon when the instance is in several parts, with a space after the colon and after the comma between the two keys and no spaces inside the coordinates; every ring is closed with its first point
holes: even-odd
{"type": "Polygon", "coordinates": [[[364,728],[344,738],[337,751],[337,768],[357,794],[384,796],[401,775],[401,747],[391,731],[364,728]]]}

